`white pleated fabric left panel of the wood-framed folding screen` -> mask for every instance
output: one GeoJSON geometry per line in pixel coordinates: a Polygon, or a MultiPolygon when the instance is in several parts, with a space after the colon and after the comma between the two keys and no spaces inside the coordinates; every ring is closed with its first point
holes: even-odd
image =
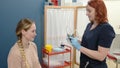
{"type": "Polygon", "coordinates": [[[46,7],[45,44],[58,47],[67,42],[67,33],[74,32],[74,8],[46,7]]]}

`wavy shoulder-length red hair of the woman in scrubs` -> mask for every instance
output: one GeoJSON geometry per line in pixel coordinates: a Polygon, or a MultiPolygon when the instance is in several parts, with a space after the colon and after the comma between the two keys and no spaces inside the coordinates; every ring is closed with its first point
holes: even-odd
{"type": "Polygon", "coordinates": [[[93,7],[96,12],[95,20],[100,23],[108,22],[107,9],[103,0],[90,0],[88,5],[93,7]]]}

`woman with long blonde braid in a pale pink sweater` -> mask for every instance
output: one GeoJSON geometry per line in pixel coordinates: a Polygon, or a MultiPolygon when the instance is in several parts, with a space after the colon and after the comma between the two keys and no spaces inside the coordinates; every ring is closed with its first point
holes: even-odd
{"type": "Polygon", "coordinates": [[[18,40],[8,55],[8,68],[41,68],[36,44],[35,22],[25,18],[21,19],[16,27],[18,40]]]}

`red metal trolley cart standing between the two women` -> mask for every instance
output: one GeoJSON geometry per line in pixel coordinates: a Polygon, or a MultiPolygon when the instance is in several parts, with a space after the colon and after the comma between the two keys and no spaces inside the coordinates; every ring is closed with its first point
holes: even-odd
{"type": "MultiPolygon", "coordinates": [[[[51,68],[51,62],[50,62],[50,57],[51,56],[56,56],[56,55],[64,55],[64,54],[70,54],[69,56],[69,61],[68,60],[63,60],[63,64],[62,65],[55,65],[55,66],[52,66],[52,68],[64,68],[66,66],[70,66],[71,68],[71,47],[68,46],[68,45],[65,45],[65,49],[64,51],[62,52],[48,52],[45,48],[42,49],[42,55],[43,55],[43,58],[45,55],[47,55],[47,63],[44,63],[45,61],[43,60],[43,63],[42,63],[42,66],[43,68],[51,68]]],[[[60,56],[58,56],[58,58],[61,58],[60,56]]],[[[62,58],[64,59],[64,58],[62,58]]],[[[56,59],[55,60],[59,60],[59,59],[56,59]]]]}

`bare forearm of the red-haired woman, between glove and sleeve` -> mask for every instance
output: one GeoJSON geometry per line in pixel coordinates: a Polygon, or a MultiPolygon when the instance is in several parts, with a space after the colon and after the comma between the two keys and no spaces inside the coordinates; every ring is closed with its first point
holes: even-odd
{"type": "Polygon", "coordinates": [[[109,49],[103,49],[102,50],[90,50],[87,49],[85,47],[82,47],[80,49],[80,52],[82,52],[83,54],[87,55],[88,57],[92,58],[92,59],[96,59],[99,61],[103,61],[108,53],[109,49]]]}

